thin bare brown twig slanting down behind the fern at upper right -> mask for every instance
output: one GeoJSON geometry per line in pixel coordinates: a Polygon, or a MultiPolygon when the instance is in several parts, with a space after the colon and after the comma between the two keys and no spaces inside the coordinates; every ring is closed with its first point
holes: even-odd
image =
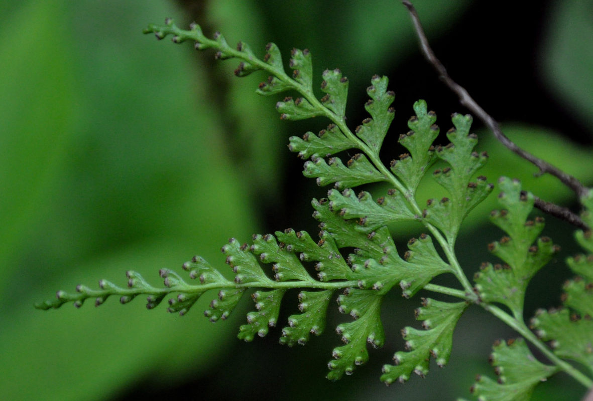
{"type": "MultiPolygon", "coordinates": [[[[521,147],[515,145],[515,143],[508,139],[508,137],[506,137],[502,130],[500,130],[500,125],[498,122],[492,118],[490,114],[486,113],[486,111],[484,111],[484,109],[480,107],[480,105],[477,104],[475,100],[473,100],[473,98],[463,86],[457,84],[457,82],[451,79],[447,73],[447,69],[445,69],[445,66],[442,65],[441,61],[436,58],[435,53],[432,51],[431,46],[428,43],[428,39],[426,39],[426,34],[424,33],[422,24],[420,24],[420,19],[418,17],[418,13],[416,12],[416,8],[414,8],[412,3],[407,0],[403,0],[402,4],[407,7],[410,15],[412,16],[412,22],[414,23],[416,34],[420,40],[420,48],[422,49],[424,57],[429,63],[431,63],[433,68],[435,68],[441,81],[445,82],[445,85],[447,85],[449,89],[451,89],[451,91],[453,91],[455,94],[457,94],[460,103],[467,107],[471,113],[480,118],[480,120],[482,120],[483,123],[486,124],[486,126],[492,131],[496,139],[498,139],[503,145],[508,147],[508,149],[510,149],[512,152],[517,153],[517,155],[537,166],[537,168],[540,169],[539,174],[548,173],[554,175],[554,177],[560,179],[563,184],[574,191],[579,198],[588,194],[588,189],[583,184],[581,184],[578,179],[572,177],[570,174],[566,174],[556,166],[553,166],[550,163],[535,157],[531,153],[526,152],[525,150],[521,149],[521,147]]],[[[535,206],[546,213],[552,214],[553,216],[566,220],[569,223],[575,224],[575,226],[587,229],[586,224],[580,219],[580,217],[565,207],[560,207],[554,203],[546,202],[539,198],[537,198],[535,201],[535,206]]]]}

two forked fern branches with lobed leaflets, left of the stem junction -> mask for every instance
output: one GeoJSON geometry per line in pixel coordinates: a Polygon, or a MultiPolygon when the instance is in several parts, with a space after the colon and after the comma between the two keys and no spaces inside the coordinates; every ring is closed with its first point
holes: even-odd
{"type": "Polygon", "coordinates": [[[334,348],[334,359],[328,364],[327,377],[336,380],[353,373],[357,365],[368,360],[367,344],[374,347],[384,344],[380,318],[382,299],[399,285],[404,297],[426,289],[464,301],[426,300],[417,311],[426,330],[405,329],[409,351],[396,354],[397,365],[386,365],[382,380],[386,383],[407,380],[412,371],[425,375],[431,354],[439,365],[444,365],[451,353],[452,332],[457,320],[469,303],[478,300],[455,256],[455,238],[468,212],[492,191],[492,185],[483,177],[471,181],[487,159],[485,153],[478,155],[473,150],[477,140],[469,133],[471,117],[454,115],[455,129],[448,133],[451,144],[435,147],[433,140],[439,132],[435,125],[436,114],[428,111],[425,101],[417,101],[413,107],[416,116],[408,123],[411,131],[399,139],[409,154],[404,153],[388,168],[379,158],[382,142],[394,118],[391,107],[394,94],[388,90],[386,77],[371,79],[371,86],[367,88],[370,99],[365,104],[370,117],[351,131],[345,122],[347,78],[338,69],[323,72],[321,91],[324,95],[318,99],[313,91],[311,53],[307,49],[292,50],[289,61],[292,72],[286,73],[280,51],[273,43],[266,46],[263,59],[259,59],[246,43],[239,42],[232,48],[219,33],[208,39],[196,24],[186,31],[168,19],[165,25],[149,25],[145,32],[154,33],[158,39],[171,34],[175,43],[193,40],[197,50],[213,49],[216,59],[238,59],[237,76],[263,70],[270,76],[257,89],[261,95],[297,92],[277,102],[276,110],[281,119],[324,117],[330,124],[318,134],[308,132],[302,139],[291,137],[289,149],[302,159],[310,159],[304,163],[306,177],[315,178],[322,186],[333,184],[343,191],[330,190],[327,198],[313,200],[314,217],[321,229],[318,241],[307,232],[292,229],[275,235],[255,235],[251,245],[229,240],[222,252],[235,274],[233,280],[227,280],[220,271],[196,256],[183,265],[190,279],[196,280],[195,284],[187,283],[173,271],[163,270],[161,277],[165,287],[155,288],[131,272],[130,288],[107,282],[103,283],[101,291],[79,286],[77,294],[60,291],[57,300],[39,307],[59,307],[68,301],[80,306],[91,296],[97,297],[100,300],[97,304],[100,304],[116,294],[122,296],[122,302],[145,294],[148,306],[155,307],[168,294],[176,294],[169,301],[168,310],[183,315],[206,291],[216,291],[215,299],[205,311],[205,316],[216,322],[227,319],[243,294],[249,291],[256,310],[247,314],[247,324],[240,327],[238,337],[251,341],[256,335],[267,335],[270,327],[278,325],[286,291],[298,288],[301,313],[289,316],[288,326],[282,329],[280,336],[282,344],[292,346],[305,344],[311,334],[319,335],[325,330],[330,300],[336,290],[342,290],[343,294],[337,299],[339,311],[354,320],[336,328],[345,342],[334,348]],[[343,163],[336,153],[350,149],[356,153],[343,163]],[[416,189],[438,158],[449,166],[433,175],[451,196],[441,203],[429,201],[428,208],[422,210],[417,204],[416,189]],[[392,189],[377,201],[368,192],[355,196],[353,188],[372,182],[386,182],[392,189]],[[425,227],[427,233],[410,239],[402,257],[387,224],[410,220],[425,227]],[[309,262],[314,264],[317,277],[308,270],[309,262]],[[463,290],[431,283],[434,277],[444,273],[454,274],[463,290]]]}

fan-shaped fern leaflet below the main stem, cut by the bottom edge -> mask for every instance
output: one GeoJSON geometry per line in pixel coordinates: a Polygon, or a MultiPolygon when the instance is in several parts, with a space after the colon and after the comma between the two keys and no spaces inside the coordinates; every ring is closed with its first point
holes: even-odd
{"type": "Polygon", "coordinates": [[[536,360],[522,338],[497,341],[492,350],[490,362],[499,378],[477,377],[471,392],[480,401],[528,401],[535,386],[558,370],[536,360]]]}

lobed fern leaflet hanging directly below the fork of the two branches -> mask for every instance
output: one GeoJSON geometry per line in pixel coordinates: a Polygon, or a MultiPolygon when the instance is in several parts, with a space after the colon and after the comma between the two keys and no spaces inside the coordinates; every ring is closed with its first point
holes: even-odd
{"type": "Polygon", "coordinates": [[[453,330],[467,306],[465,302],[423,299],[422,307],[416,310],[416,319],[424,321],[422,326],[425,330],[406,327],[401,331],[409,351],[396,352],[393,356],[396,364],[384,365],[381,381],[385,384],[396,380],[403,383],[412,372],[420,377],[426,376],[431,355],[440,367],[447,364],[451,355],[453,330]]]}

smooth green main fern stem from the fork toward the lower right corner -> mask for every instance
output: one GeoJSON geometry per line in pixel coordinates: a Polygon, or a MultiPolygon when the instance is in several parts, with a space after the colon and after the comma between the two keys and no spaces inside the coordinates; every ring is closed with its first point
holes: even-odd
{"type": "Polygon", "coordinates": [[[550,348],[546,347],[546,345],[543,344],[543,342],[541,342],[540,339],[538,339],[533,332],[531,332],[527,325],[525,325],[525,322],[523,322],[522,320],[515,319],[515,317],[512,317],[499,307],[494,306],[492,304],[484,303],[481,304],[481,306],[488,312],[492,313],[492,315],[498,317],[500,320],[505,322],[508,326],[511,326],[522,336],[524,336],[524,338],[526,338],[528,341],[531,342],[531,344],[537,347],[558,368],[565,371],[565,373],[568,373],[570,376],[572,376],[576,381],[581,383],[586,388],[590,389],[591,387],[593,387],[593,380],[591,380],[591,378],[581,373],[581,371],[573,367],[573,365],[557,357],[556,354],[554,354],[554,352],[550,350],[550,348]]]}

